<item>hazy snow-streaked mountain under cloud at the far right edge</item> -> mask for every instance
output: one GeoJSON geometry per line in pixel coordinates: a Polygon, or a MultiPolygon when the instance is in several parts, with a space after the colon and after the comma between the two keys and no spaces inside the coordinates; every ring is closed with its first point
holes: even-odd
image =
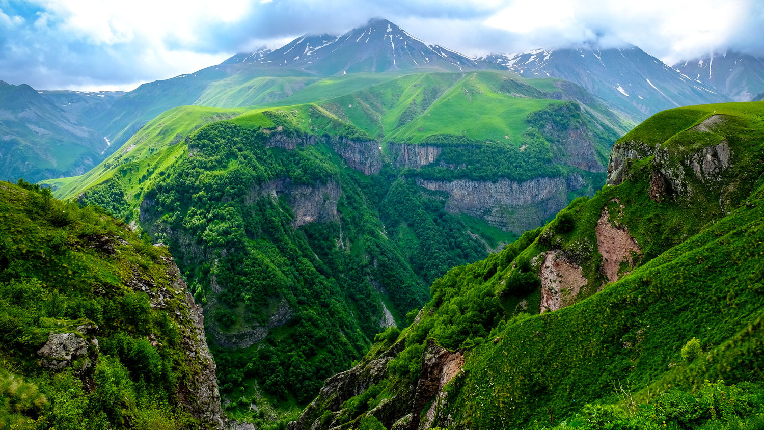
{"type": "Polygon", "coordinates": [[[764,60],[734,51],[711,53],[681,61],[673,69],[708,86],[735,102],[753,101],[764,92],[764,60]]]}

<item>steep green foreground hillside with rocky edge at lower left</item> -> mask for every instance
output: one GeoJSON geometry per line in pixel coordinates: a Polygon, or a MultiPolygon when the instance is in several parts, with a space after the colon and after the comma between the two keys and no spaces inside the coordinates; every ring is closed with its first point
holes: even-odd
{"type": "Polygon", "coordinates": [[[0,428],[224,428],[166,247],[28,183],[0,209],[0,428]]]}

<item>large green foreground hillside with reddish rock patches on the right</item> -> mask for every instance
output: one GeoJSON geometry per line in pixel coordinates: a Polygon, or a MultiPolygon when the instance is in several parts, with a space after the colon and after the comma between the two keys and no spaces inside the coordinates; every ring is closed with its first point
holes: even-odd
{"type": "Polygon", "coordinates": [[[432,283],[290,428],[758,428],[762,121],[761,102],[649,118],[608,186],[432,283]]]}

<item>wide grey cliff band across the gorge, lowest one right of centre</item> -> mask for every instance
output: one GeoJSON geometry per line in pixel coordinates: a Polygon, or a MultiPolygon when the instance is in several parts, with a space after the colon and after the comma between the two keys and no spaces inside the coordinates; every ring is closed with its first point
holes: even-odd
{"type": "Polygon", "coordinates": [[[504,231],[523,233],[568,205],[568,191],[585,186],[581,176],[541,177],[518,183],[509,179],[496,182],[456,179],[435,181],[416,179],[432,191],[448,192],[446,209],[481,218],[504,231]]]}

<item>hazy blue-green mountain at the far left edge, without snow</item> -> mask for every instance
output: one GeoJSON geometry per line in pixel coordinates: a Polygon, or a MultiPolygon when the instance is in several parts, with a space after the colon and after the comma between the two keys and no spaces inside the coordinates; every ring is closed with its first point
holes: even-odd
{"type": "Polygon", "coordinates": [[[37,182],[90,170],[109,147],[91,119],[120,95],[37,91],[0,81],[0,178],[37,182]]]}

